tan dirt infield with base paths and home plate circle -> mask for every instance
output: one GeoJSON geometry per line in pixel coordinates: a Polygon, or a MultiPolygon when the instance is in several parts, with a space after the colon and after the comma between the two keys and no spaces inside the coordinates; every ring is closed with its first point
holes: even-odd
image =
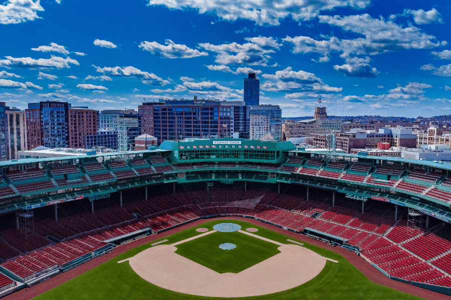
{"type": "MultiPolygon", "coordinates": [[[[221,223],[213,228],[215,230],[173,244],[150,247],[130,257],[128,259],[130,266],[143,279],[173,291],[211,297],[244,297],[274,293],[301,285],[317,276],[325,266],[326,260],[331,260],[297,244],[282,244],[239,230],[241,226],[238,224],[221,223]],[[214,234],[219,235],[217,232],[219,230],[238,231],[240,233],[235,234],[243,234],[245,238],[260,238],[272,242],[278,245],[277,249],[280,252],[238,273],[219,273],[175,253],[176,245],[196,239],[201,241],[202,238],[206,238],[205,235],[214,238],[214,234]]],[[[225,234],[227,237],[227,234],[232,233],[225,234]]],[[[255,241],[258,242],[257,239],[255,241]]],[[[228,243],[228,240],[224,240],[223,243],[228,243]]],[[[218,245],[215,245],[216,249],[218,245]]],[[[237,249],[220,251],[229,255],[237,249]]],[[[199,248],[198,251],[201,253],[202,249],[199,248]]]]}

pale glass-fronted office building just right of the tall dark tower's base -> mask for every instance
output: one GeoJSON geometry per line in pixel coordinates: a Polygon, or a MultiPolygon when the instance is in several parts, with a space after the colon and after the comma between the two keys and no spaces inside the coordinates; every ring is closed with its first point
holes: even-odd
{"type": "MultiPolygon", "coordinates": [[[[253,119],[257,122],[254,122],[254,125],[251,121],[251,136],[252,132],[257,131],[259,127],[259,120],[263,121],[263,117],[266,119],[268,118],[268,125],[269,125],[269,134],[271,134],[273,140],[281,140],[282,138],[282,109],[280,109],[279,105],[270,105],[270,104],[263,104],[263,105],[251,105],[251,111],[250,111],[250,117],[251,120],[253,119]],[[254,127],[253,127],[254,126],[254,127]]],[[[266,121],[265,121],[266,122],[266,121]]]]}

